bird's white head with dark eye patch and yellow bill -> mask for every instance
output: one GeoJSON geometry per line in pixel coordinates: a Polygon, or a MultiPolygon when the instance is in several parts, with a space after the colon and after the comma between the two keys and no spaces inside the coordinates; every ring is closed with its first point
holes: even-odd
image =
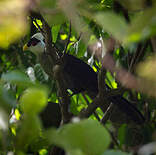
{"type": "Polygon", "coordinates": [[[35,55],[43,53],[45,50],[44,37],[41,33],[34,34],[31,39],[23,46],[23,51],[29,50],[35,55]]]}

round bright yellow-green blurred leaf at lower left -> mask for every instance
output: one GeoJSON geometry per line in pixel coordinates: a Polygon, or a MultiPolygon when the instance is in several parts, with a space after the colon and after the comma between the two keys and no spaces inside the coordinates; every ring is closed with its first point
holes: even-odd
{"type": "Polygon", "coordinates": [[[22,110],[29,115],[37,114],[47,105],[48,95],[44,89],[29,88],[20,98],[22,110]]]}

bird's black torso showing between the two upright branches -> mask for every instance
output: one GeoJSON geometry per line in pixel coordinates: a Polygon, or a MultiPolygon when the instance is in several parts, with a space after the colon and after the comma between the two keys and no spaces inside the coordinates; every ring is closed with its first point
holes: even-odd
{"type": "Polygon", "coordinates": [[[68,89],[71,89],[73,94],[78,94],[83,91],[98,93],[97,74],[94,70],[82,60],[65,54],[63,57],[63,72],[67,82],[68,89]]]}

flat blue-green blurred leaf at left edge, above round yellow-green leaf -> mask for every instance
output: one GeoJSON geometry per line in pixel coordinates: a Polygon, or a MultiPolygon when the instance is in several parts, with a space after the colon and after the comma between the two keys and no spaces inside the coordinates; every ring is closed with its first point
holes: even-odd
{"type": "Polygon", "coordinates": [[[20,86],[34,85],[25,73],[17,70],[3,74],[1,77],[1,81],[10,82],[12,84],[17,84],[20,86]]]}

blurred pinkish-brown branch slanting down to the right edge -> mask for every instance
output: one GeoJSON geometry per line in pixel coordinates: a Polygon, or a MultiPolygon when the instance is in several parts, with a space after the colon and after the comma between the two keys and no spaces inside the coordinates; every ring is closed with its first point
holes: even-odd
{"type": "MultiPolygon", "coordinates": [[[[99,61],[101,61],[102,67],[110,71],[111,74],[115,73],[116,80],[120,82],[123,87],[127,89],[135,89],[136,91],[146,93],[149,96],[156,97],[156,86],[154,84],[146,79],[139,78],[131,74],[129,71],[125,70],[122,67],[116,66],[116,62],[110,54],[111,49],[113,49],[113,47],[115,46],[115,42],[112,41],[112,38],[109,40],[108,45],[109,46],[104,57],[102,57],[102,55],[100,56],[101,53],[99,51],[95,52],[95,56],[99,61]]],[[[146,47],[147,45],[145,46],[145,48],[146,47]]],[[[94,51],[90,50],[90,52],[94,51]]]]}

